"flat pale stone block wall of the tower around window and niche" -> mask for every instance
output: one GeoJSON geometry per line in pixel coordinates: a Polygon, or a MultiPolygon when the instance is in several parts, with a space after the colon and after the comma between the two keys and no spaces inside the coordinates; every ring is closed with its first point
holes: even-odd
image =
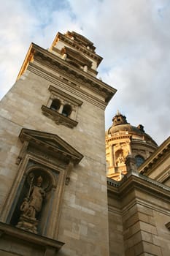
{"type": "MultiPolygon", "coordinates": [[[[1,209],[6,207],[1,221],[5,222],[7,211],[10,211],[7,198],[18,175],[16,159],[22,147],[18,138],[20,130],[28,128],[53,133],[84,156],[80,164],[73,168],[69,185],[64,187],[61,195],[58,230],[54,230],[51,237],[66,243],[58,255],[108,255],[104,109],[93,104],[93,97],[92,100],[82,99],[79,90],[75,96],[72,92],[75,89],[68,91],[68,85],[56,83],[60,86],[26,71],[1,100],[1,209]],[[50,97],[50,85],[63,88],[67,94],[82,100],[82,106],[77,111],[77,127],[70,129],[55,124],[42,114],[41,107],[47,105],[50,97]]],[[[85,94],[90,94],[89,89],[81,87],[85,94]]],[[[12,195],[14,200],[16,193],[12,195]]],[[[58,213],[53,212],[54,218],[55,214],[57,216],[58,213]]],[[[53,222],[49,220],[49,223],[53,229],[53,222]]]]}

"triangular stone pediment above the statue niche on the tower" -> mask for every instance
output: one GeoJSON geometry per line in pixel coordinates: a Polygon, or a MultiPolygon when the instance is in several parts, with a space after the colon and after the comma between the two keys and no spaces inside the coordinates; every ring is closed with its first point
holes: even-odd
{"type": "Polygon", "coordinates": [[[77,164],[83,157],[69,143],[66,143],[58,135],[52,133],[23,128],[19,138],[22,142],[26,140],[28,143],[34,144],[39,148],[42,147],[43,151],[51,152],[53,155],[56,154],[56,157],[60,157],[64,162],[72,161],[74,164],[77,164]]]}

